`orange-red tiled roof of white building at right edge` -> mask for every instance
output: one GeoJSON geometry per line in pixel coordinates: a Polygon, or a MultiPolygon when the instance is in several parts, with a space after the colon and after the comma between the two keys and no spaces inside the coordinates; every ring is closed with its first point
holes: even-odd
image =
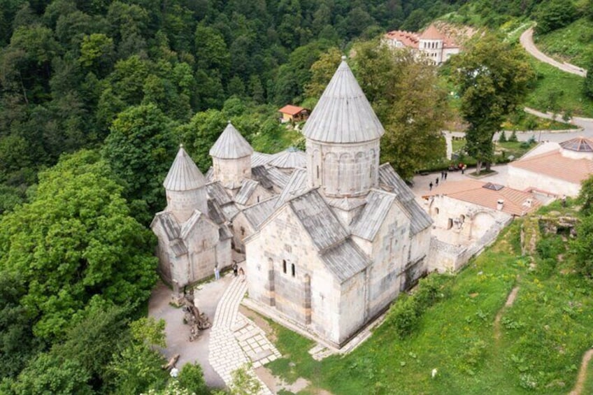
{"type": "MultiPolygon", "coordinates": [[[[534,173],[548,175],[580,184],[593,173],[593,161],[590,159],[571,159],[563,157],[559,151],[545,152],[534,157],[527,157],[511,162],[508,166],[523,168],[534,173]]],[[[533,185],[537,187],[537,185],[533,185]]]]}

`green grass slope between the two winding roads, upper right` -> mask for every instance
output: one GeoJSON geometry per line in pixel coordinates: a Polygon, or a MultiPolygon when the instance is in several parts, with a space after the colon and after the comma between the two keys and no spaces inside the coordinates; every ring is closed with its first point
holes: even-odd
{"type": "Polygon", "coordinates": [[[540,111],[569,111],[572,115],[593,117],[593,100],[583,94],[583,77],[564,73],[555,67],[531,60],[538,79],[527,96],[527,106],[540,111]]]}

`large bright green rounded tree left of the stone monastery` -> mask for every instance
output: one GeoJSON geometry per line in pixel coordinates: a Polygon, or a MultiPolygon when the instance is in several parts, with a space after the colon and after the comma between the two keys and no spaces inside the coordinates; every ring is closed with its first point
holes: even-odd
{"type": "Polygon", "coordinates": [[[130,216],[106,162],[81,151],[39,179],[31,203],[0,221],[0,271],[22,278],[35,335],[64,336],[93,296],[116,304],[148,299],[154,236],[130,216]]]}

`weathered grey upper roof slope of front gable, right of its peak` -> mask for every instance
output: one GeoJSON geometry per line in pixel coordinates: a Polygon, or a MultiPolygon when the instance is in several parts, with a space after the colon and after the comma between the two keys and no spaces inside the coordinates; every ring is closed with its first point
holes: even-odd
{"type": "Polygon", "coordinates": [[[318,250],[336,245],[348,233],[322,196],[313,189],[288,202],[318,250]]]}

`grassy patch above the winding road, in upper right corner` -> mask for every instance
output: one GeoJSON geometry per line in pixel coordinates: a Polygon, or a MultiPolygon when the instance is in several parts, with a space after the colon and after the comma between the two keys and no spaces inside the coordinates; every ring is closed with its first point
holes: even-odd
{"type": "Polygon", "coordinates": [[[593,24],[581,18],[567,27],[535,36],[539,50],[558,59],[587,69],[593,54],[593,24]]]}

